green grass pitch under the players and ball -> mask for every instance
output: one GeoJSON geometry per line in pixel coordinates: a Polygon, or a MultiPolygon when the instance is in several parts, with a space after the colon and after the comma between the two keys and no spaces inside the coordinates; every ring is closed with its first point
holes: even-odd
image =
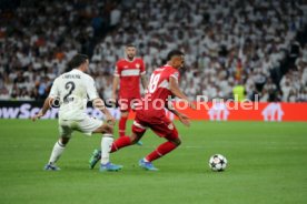
{"type": "Polygon", "coordinates": [[[100,136],[80,133],[58,162],[62,170],[44,172],[57,121],[0,120],[0,203],[307,203],[306,123],[176,124],[182,145],[155,162],[159,172],[138,167],[138,160],[164,142],[151,131],[143,146],[111,155],[125,166],[121,172],[88,170],[100,136]],[[209,170],[215,153],[228,159],[225,172],[209,170]]]}

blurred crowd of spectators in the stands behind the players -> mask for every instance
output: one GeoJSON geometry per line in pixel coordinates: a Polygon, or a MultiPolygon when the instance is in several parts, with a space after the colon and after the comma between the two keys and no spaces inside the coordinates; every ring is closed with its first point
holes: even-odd
{"type": "Polygon", "coordinates": [[[182,50],[191,99],[230,99],[242,86],[250,100],[307,101],[303,0],[2,0],[0,18],[0,100],[44,99],[78,52],[108,99],[115,63],[133,43],[148,75],[182,50]]]}

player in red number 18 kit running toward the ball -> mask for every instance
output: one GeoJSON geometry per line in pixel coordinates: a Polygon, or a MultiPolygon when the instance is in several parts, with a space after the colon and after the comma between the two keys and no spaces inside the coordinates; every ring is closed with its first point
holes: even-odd
{"type": "MultiPolygon", "coordinates": [[[[131,136],[121,136],[115,141],[111,152],[135,144],[142,137],[147,129],[151,129],[160,137],[165,137],[167,142],[160,144],[154,152],[141,159],[139,165],[149,171],[157,171],[158,169],[156,169],[151,162],[168,154],[180,145],[181,141],[178,131],[174,123],[166,116],[164,108],[169,109],[176,114],[186,126],[190,125],[189,118],[172,109],[168,102],[168,99],[175,95],[182,99],[190,108],[195,109],[195,105],[180,91],[178,85],[178,70],[184,67],[184,53],[179,50],[174,50],[168,53],[167,64],[154,71],[142,108],[136,110],[137,114],[132,124],[131,136]]],[[[99,155],[97,155],[97,157],[99,157],[99,155]]]]}

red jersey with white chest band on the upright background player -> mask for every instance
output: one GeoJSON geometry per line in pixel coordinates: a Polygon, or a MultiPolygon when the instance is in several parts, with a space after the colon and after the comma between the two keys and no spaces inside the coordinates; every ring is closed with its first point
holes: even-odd
{"type": "Polygon", "coordinates": [[[119,98],[140,98],[140,75],[145,74],[145,64],[140,58],[132,61],[121,59],[116,63],[115,76],[119,76],[119,98]]]}

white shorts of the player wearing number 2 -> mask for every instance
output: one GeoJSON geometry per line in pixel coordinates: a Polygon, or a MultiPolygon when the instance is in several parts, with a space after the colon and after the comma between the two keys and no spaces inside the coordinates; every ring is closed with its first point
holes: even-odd
{"type": "Polygon", "coordinates": [[[83,120],[59,120],[60,136],[70,137],[73,131],[79,131],[83,134],[91,135],[99,126],[103,124],[102,121],[86,116],[83,120]]]}

